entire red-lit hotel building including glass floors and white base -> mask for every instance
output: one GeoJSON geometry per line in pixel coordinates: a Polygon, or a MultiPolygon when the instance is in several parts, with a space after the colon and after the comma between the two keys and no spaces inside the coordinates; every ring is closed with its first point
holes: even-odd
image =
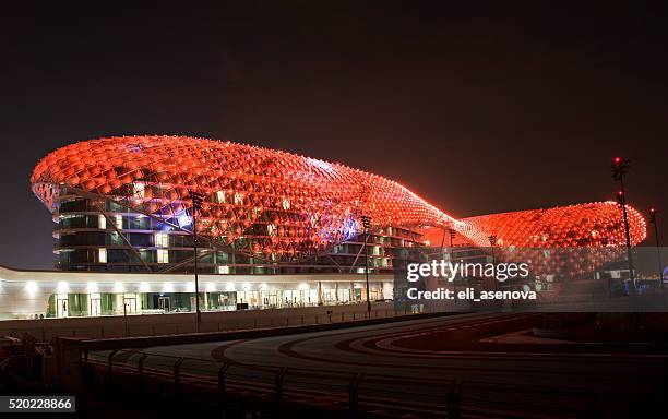
{"type": "MultiPolygon", "coordinates": [[[[40,296],[21,313],[49,316],[114,314],[123,303],[135,312],[191,310],[193,215],[206,310],[365,300],[367,252],[371,298],[391,299],[392,273],[407,249],[449,246],[450,231],[467,251],[489,247],[492,236],[499,247],[624,242],[616,203],[454,218],[377,175],[187,136],[68,145],[37,164],[31,184],[57,224],[56,267],[63,272],[0,280],[40,296]],[[203,196],[196,211],[193,194],[203,196]]],[[[636,244],[645,222],[628,210],[636,244]]]]}

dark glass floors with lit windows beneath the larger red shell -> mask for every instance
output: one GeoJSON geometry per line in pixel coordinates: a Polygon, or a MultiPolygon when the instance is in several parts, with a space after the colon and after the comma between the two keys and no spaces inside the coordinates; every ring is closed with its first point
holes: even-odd
{"type": "MultiPolygon", "coordinates": [[[[56,267],[96,272],[194,272],[193,236],[156,217],[133,213],[107,200],[83,199],[62,188],[53,230],[57,238],[56,267]],[[102,210],[104,208],[104,210],[102,210]]],[[[265,225],[250,226],[269,228],[265,225]]],[[[275,228],[275,227],[274,227],[275,228]]],[[[243,237],[238,241],[243,241],[243,237]]],[[[366,266],[365,237],[334,246],[326,252],[294,263],[272,263],[198,243],[198,272],[203,274],[298,274],[358,272],[366,266]]],[[[403,248],[421,246],[420,235],[410,229],[385,228],[367,239],[370,273],[391,273],[393,260],[403,248]]],[[[288,298],[290,300],[291,298],[288,298]]]]}

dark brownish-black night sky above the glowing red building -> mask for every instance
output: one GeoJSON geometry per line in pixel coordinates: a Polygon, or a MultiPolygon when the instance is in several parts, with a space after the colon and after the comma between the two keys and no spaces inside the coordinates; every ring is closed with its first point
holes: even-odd
{"type": "Polygon", "coordinates": [[[632,160],[630,203],[659,208],[668,244],[665,10],[57,3],[0,13],[0,264],[52,266],[55,225],[28,183],[38,159],[121,134],[339,161],[457,217],[610,200],[620,155],[632,160]]]}

